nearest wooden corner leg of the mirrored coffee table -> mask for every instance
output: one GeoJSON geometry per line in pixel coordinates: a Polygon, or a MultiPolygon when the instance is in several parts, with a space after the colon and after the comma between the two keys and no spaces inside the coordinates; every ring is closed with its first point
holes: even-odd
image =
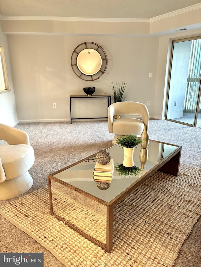
{"type": "Polygon", "coordinates": [[[112,235],[113,235],[113,207],[107,206],[107,241],[106,251],[112,250],[112,235]]]}

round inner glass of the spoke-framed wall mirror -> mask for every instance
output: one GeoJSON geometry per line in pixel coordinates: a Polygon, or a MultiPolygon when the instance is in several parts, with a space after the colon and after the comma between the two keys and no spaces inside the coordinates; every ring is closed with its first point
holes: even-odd
{"type": "Polygon", "coordinates": [[[76,64],[83,74],[94,75],[102,66],[102,58],[96,50],[87,48],[78,54],[76,64]]]}

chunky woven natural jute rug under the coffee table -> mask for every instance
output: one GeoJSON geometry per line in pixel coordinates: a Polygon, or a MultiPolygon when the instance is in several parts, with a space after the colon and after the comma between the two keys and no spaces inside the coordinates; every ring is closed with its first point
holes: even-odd
{"type": "Polygon", "coordinates": [[[50,215],[47,186],[0,213],[65,266],[169,267],[201,215],[200,196],[198,167],[181,164],[178,177],[156,172],[115,207],[111,253],[50,215]]]}

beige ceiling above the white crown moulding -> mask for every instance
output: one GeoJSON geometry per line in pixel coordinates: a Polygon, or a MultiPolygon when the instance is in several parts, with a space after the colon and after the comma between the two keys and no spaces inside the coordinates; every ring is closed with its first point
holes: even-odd
{"type": "Polygon", "coordinates": [[[2,16],[153,18],[200,0],[0,0],[2,16]]]}

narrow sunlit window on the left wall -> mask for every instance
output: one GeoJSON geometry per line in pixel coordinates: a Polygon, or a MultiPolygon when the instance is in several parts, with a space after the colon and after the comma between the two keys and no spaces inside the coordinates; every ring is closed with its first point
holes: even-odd
{"type": "Polygon", "coordinates": [[[8,77],[3,46],[0,46],[0,90],[8,90],[8,77]]]}

